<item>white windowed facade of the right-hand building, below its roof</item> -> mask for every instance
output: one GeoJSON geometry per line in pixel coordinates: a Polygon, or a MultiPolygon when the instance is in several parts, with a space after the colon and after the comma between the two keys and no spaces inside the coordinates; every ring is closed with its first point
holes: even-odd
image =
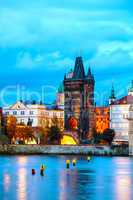
{"type": "Polygon", "coordinates": [[[110,128],[115,130],[115,141],[128,141],[129,107],[128,104],[110,106],[110,128]]]}

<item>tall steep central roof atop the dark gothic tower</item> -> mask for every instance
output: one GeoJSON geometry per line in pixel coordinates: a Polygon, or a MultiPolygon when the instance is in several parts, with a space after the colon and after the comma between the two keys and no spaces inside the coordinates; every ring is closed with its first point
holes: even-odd
{"type": "Polygon", "coordinates": [[[84,65],[83,65],[82,57],[76,58],[73,78],[74,79],[85,78],[85,71],[84,71],[84,65]]]}

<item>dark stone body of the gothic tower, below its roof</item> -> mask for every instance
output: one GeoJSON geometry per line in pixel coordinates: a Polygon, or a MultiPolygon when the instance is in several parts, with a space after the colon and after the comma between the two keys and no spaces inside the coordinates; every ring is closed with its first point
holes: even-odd
{"type": "Polygon", "coordinates": [[[86,127],[92,133],[94,128],[94,85],[87,80],[64,81],[65,87],[65,128],[69,129],[68,121],[74,117],[78,122],[78,127],[82,129],[86,117],[86,127]],[[90,85],[89,85],[90,84],[90,85]],[[83,116],[84,115],[84,116],[83,116]]]}

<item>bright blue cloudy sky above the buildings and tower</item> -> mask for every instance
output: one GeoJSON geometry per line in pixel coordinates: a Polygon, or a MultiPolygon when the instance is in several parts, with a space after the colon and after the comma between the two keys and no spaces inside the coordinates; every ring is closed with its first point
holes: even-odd
{"type": "Polygon", "coordinates": [[[0,0],[0,104],[52,103],[64,74],[82,56],[106,104],[133,79],[132,0],[0,0]]]}

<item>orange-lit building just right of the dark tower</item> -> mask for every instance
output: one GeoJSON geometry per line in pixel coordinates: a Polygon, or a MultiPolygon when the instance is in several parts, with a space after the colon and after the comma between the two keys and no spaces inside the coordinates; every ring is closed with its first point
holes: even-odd
{"type": "Polygon", "coordinates": [[[103,133],[110,125],[109,107],[95,108],[95,130],[97,133],[103,133]]]}

